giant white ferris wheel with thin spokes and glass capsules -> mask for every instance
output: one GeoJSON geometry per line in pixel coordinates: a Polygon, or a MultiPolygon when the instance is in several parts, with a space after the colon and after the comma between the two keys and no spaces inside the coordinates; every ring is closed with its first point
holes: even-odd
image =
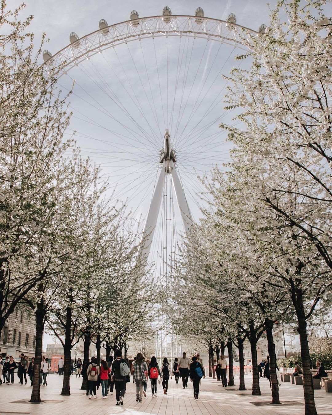
{"type": "MultiPolygon", "coordinates": [[[[246,29],[248,34],[264,33],[246,29]]],[[[161,296],[156,322],[156,356],[181,354],[181,342],[168,318],[168,290],[177,289],[174,267],[179,232],[199,217],[204,191],[197,176],[208,175],[228,159],[229,144],[218,124],[232,117],[223,111],[235,48],[246,49],[227,20],[194,15],[139,17],[79,37],[52,55],[43,52],[46,71],[61,88],[75,81],[70,109],[82,154],[102,166],[111,199],[126,199],[134,217],[145,219],[141,249],[155,261],[161,296]],[[165,299],[166,298],[166,299],[165,299]]],[[[172,305],[171,305],[172,307],[172,305]]],[[[175,307],[176,308],[176,307],[175,307]]]]}

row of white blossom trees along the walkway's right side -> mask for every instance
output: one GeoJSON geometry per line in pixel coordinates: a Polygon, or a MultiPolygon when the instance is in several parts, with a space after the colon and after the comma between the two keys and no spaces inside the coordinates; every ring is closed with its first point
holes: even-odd
{"type": "Polygon", "coordinates": [[[250,59],[250,67],[227,77],[226,108],[238,110],[240,126],[221,125],[235,144],[231,162],[227,173],[216,167],[205,179],[212,202],[184,242],[179,264],[179,283],[191,298],[182,303],[184,312],[197,321],[207,312],[237,344],[250,341],[253,394],[260,394],[256,343],[266,333],[272,403],[279,403],[273,326],[296,321],[306,415],[317,413],[307,322],[317,305],[330,310],[331,304],[327,4],[282,0],[264,34],[234,27],[248,47],[238,58],[250,59]]]}

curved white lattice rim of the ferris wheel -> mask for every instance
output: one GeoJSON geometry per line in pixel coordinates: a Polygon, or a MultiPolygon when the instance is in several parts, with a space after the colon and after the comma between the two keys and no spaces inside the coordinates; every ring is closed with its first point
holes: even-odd
{"type": "Polygon", "coordinates": [[[207,41],[219,41],[247,50],[247,46],[240,41],[239,36],[233,30],[235,27],[245,30],[248,35],[259,34],[259,32],[239,24],[210,17],[170,15],[126,20],[87,34],[68,44],[54,55],[45,51],[48,53],[49,59],[46,60],[44,66],[49,73],[53,69],[53,76],[61,78],[85,59],[90,59],[90,56],[101,53],[106,49],[114,48],[120,44],[127,44],[130,41],[154,39],[155,37],[186,36],[201,38],[207,41]]]}

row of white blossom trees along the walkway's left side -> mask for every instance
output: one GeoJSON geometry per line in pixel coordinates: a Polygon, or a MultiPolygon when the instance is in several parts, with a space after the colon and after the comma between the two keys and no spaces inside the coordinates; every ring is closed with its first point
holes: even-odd
{"type": "Polygon", "coordinates": [[[99,168],[80,157],[68,127],[68,95],[40,66],[31,18],[1,2],[0,27],[0,331],[15,307],[36,315],[31,402],[40,402],[47,321],[64,348],[62,394],[70,393],[71,349],[84,339],[128,347],[149,320],[138,254],[138,224],[110,205],[99,168]],[[68,156],[69,154],[69,156],[68,156]]]}

